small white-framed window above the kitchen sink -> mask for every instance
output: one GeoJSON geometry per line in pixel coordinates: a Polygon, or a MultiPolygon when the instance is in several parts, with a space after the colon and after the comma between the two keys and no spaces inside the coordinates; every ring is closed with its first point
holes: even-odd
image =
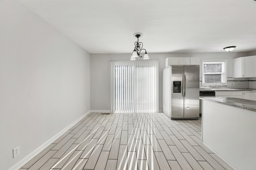
{"type": "Polygon", "coordinates": [[[227,60],[202,60],[202,86],[227,85],[227,60]]]}

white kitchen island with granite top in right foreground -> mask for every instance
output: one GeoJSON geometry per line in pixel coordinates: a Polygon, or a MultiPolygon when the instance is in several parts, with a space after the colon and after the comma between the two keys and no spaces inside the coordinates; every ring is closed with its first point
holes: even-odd
{"type": "Polygon", "coordinates": [[[239,98],[202,100],[202,143],[238,170],[254,170],[256,101],[239,98]]]}

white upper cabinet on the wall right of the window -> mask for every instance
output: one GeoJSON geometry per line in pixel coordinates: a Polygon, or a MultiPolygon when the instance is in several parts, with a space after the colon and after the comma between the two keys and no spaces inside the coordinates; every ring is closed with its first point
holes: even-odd
{"type": "Polygon", "coordinates": [[[256,55],[233,59],[233,77],[256,77],[256,55]]]}

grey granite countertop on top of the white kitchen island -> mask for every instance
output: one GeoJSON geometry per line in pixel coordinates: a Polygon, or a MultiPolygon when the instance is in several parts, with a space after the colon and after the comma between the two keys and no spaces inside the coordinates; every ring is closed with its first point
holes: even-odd
{"type": "Polygon", "coordinates": [[[246,100],[246,99],[230,98],[230,97],[215,97],[215,98],[203,97],[200,99],[256,112],[256,101],[254,100],[246,100]]]}

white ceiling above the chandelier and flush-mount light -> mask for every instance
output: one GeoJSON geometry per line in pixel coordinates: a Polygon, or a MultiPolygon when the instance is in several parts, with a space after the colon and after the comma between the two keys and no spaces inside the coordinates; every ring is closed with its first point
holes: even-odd
{"type": "Polygon", "coordinates": [[[89,53],[256,50],[254,0],[20,0],[89,53]]]}

